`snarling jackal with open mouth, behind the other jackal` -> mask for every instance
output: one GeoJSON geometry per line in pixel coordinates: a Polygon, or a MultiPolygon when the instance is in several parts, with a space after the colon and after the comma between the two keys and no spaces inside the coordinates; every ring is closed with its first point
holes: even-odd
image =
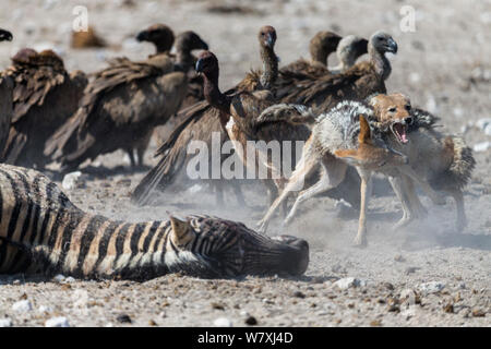
{"type": "MultiPolygon", "coordinates": [[[[472,151],[457,135],[438,132],[438,120],[428,111],[411,108],[410,99],[402,94],[376,95],[369,98],[374,109],[378,128],[385,134],[388,146],[405,154],[417,176],[432,189],[454,197],[457,207],[456,226],[466,226],[463,188],[476,165],[472,151]]],[[[390,174],[391,184],[403,203],[404,216],[396,225],[402,227],[414,218],[426,215],[415,193],[412,180],[404,173],[390,174]]],[[[441,203],[438,200],[438,203],[441,203]]]]}

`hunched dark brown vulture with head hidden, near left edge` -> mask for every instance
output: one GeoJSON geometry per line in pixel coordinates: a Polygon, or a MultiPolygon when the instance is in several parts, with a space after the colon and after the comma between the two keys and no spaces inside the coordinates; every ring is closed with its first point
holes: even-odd
{"type": "Polygon", "coordinates": [[[51,50],[22,49],[3,74],[14,82],[13,118],[3,151],[8,164],[44,168],[50,161],[43,149],[56,129],[76,110],[87,77],[69,74],[51,50]]]}

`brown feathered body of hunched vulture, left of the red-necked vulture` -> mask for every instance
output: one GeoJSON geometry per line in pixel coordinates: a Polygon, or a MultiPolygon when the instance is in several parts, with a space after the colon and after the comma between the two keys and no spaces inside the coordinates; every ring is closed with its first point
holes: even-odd
{"type": "Polygon", "coordinates": [[[77,111],[52,136],[46,154],[53,154],[63,171],[117,149],[132,154],[182,101],[187,76],[172,71],[173,62],[167,55],[155,55],[143,62],[121,59],[96,73],[77,111]]]}

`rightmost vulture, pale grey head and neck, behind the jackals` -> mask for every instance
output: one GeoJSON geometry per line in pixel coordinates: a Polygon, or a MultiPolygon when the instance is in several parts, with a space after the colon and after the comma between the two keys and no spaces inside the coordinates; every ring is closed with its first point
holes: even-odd
{"type": "Polygon", "coordinates": [[[385,93],[384,81],[391,74],[391,63],[385,52],[397,52],[397,44],[385,33],[376,32],[368,44],[369,61],[360,62],[346,72],[321,77],[294,75],[278,87],[277,98],[283,103],[300,104],[324,111],[344,99],[362,100],[373,93],[385,93]],[[291,88],[291,85],[295,88],[291,88]]]}

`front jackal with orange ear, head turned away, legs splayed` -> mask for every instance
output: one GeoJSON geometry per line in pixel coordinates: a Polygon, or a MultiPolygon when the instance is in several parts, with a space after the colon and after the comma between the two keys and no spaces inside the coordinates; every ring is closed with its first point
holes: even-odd
{"type": "Polygon", "coordinates": [[[406,156],[387,147],[380,135],[371,131],[367,118],[372,115],[372,110],[364,104],[348,100],[318,118],[312,134],[303,147],[302,157],[285,190],[259,222],[262,231],[267,228],[274,210],[301,185],[300,182],[303,183],[304,178],[313,172],[321,172],[315,184],[299,193],[285,224],[291,220],[300,203],[337,186],[343,181],[348,165],[352,165],[361,177],[360,219],[356,243],[364,243],[366,209],[372,171],[403,167],[411,172],[406,165],[406,156]]]}

